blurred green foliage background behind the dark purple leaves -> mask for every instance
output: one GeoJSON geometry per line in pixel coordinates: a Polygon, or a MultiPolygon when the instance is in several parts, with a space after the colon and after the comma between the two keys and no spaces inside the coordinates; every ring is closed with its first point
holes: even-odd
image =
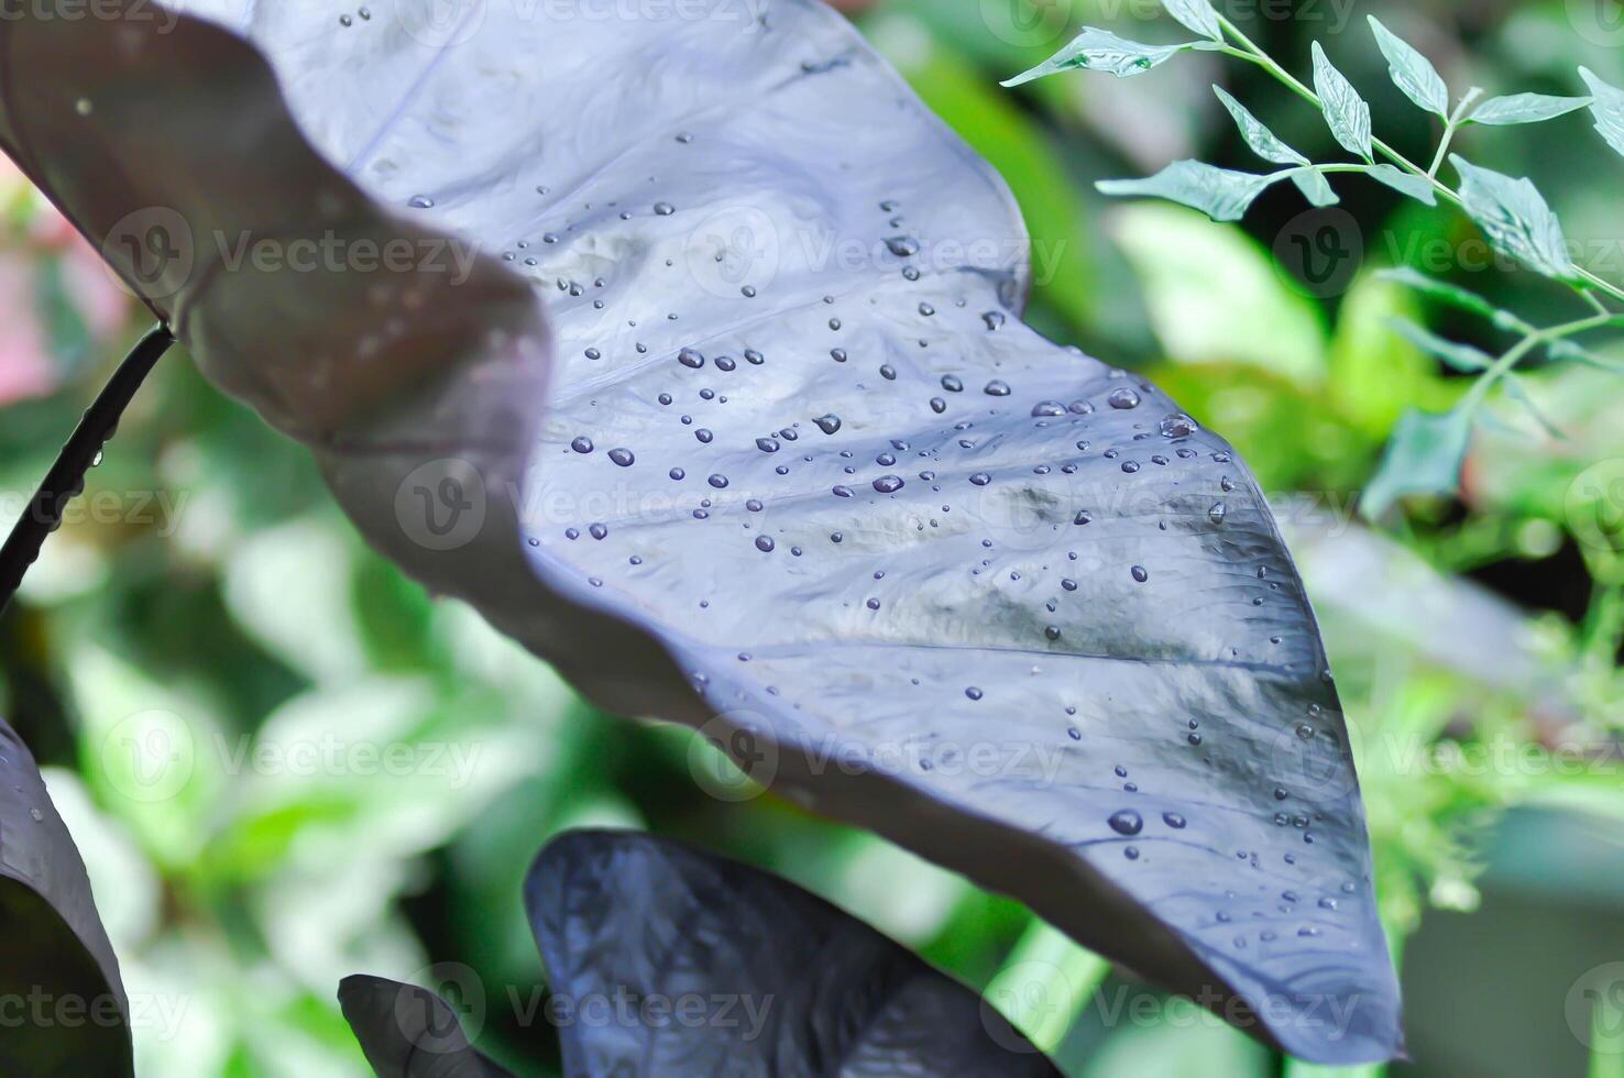
{"type": "MultiPolygon", "coordinates": [[[[1338,226],[1353,261],[1330,289],[1275,258],[1320,224],[1289,185],[1242,226],[1098,195],[1099,179],[1174,157],[1252,169],[1212,81],[1311,157],[1335,153],[1311,109],[1207,54],[1132,84],[999,88],[1083,23],[1187,37],[1151,0],[843,6],[1009,179],[1034,242],[1033,321],[1148,373],[1276,492],[1354,727],[1405,968],[1416,1062],[1392,1070],[1624,1075],[1624,1041],[1600,1018],[1575,1031],[1567,1010],[1587,971],[1624,961],[1624,380],[1535,369],[1522,386],[1561,437],[1496,393],[1458,498],[1411,498],[1380,529],[1353,513],[1402,412],[1447,409],[1468,385],[1392,320],[1492,346],[1377,270],[1413,265],[1541,323],[1570,297],[1496,268],[1462,214],[1372,183],[1338,183],[1358,229],[1338,226]]],[[[1325,42],[1411,157],[1436,130],[1387,81],[1364,15],[1452,84],[1580,94],[1577,65],[1624,84],[1614,0],[1220,6],[1299,73],[1325,42]]],[[[1624,159],[1582,114],[1460,144],[1535,177],[1592,265],[1624,281],[1624,159]]],[[[106,281],[21,180],[0,179],[0,492],[15,508],[141,320],[86,300],[106,281]]],[[[872,836],[771,796],[708,796],[703,744],[596,713],[468,609],[403,581],[307,455],[179,354],[0,622],[0,708],[84,849],[143,1073],[365,1073],[339,977],[432,963],[479,971],[484,1047],[554,1059],[546,1024],[523,1021],[544,974],[518,885],[549,834],[583,823],[685,836],[810,886],[991,989],[1069,1073],[1312,1070],[872,836]]]]}

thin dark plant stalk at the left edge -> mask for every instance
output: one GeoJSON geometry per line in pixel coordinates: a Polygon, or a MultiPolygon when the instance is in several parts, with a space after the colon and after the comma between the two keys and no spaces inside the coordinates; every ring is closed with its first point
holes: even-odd
{"type": "Polygon", "coordinates": [[[57,463],[45,472],[44,482],[23,510],[23,518],[11,529],[5,547],[0,547],[0,612],[10,606],[23,576],[39,558],[45,539],[62,526],[62,513],[68,508],[68,502],[84,490],[84,474],[96,464],[107,438],[119,429],[119,419],[135,398],[135,391],[174,343],[169,326],[158,325],[148,330],[102,386],[73,437],[62,446],[57,463]]]}

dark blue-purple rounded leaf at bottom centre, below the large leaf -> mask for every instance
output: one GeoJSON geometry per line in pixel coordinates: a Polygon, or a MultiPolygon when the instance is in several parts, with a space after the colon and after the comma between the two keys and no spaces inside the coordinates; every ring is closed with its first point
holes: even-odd
{"type": "Polygon", "coordinates": [[[749,865],[632,831],[573,831],[536,859],[525,904],[564,1003],[570,1078],[1059,1078],[979,995],[749,865]],[[615,998],[645,1020],[578,1020],[615,998]]]}

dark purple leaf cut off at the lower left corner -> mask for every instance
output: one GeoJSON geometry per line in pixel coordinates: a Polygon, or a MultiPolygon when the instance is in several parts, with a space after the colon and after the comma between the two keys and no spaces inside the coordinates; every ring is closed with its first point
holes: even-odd
{"type": "Polygon", "coordinates": [[[0,1075],[132,1075],[130,1005],[84,862],[0,719],[0,1075]]]}

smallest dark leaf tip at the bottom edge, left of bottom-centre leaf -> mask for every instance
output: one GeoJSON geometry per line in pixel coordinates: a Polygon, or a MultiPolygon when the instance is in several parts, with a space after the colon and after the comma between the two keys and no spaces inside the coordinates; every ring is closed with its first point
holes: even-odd
{"type": "Polygon", "coordinates": [[[338,1003],[378,1078],[508,1078],[468,1044],[456,1011],[427,989],[356,974],[338,985],[338,1003]]]}

